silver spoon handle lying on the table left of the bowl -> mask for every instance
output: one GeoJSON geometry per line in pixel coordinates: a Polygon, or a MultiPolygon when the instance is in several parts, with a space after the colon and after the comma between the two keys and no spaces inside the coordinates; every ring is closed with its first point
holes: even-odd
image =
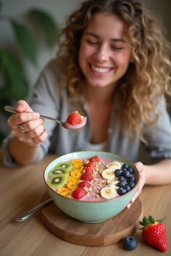
{"type": "Polygon", "coordinates": [[[28,218],[33,216],[33,214],[36,214],[36,212],[38,212],[44,206],[47,206],[47,204],[49,204],[49,203],[52,203],[52,198],[47,199],[43,203],[40,203],[38,206],[36,206],[33,209],[29,210],[25,214],[21,214],[21,215],[15,217],[15,222],[23,222],[25,220],[28,220],[28,218]]]}

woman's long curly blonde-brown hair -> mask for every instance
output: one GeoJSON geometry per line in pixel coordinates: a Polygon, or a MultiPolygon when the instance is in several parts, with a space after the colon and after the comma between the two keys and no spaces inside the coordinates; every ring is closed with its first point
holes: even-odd
{"type": "Polygon", "coordinates": [[[120,120],[123,127],[127,125],[130,129],[131,136],[138,131],[143,141],[141,124],[153,126],[159,116],[157,103],[165,93],[170,95],[170,44],[154,15],[138,0],[84,1],[68,16],[57,53],[63,85],[67,86],[71,97],[84,93],[79,44],[87,23],[96,12],[118,15],[126,25],[124,36],[132,47],[134,63],[130,63],[116,87],[121,104],[120,120]]]}

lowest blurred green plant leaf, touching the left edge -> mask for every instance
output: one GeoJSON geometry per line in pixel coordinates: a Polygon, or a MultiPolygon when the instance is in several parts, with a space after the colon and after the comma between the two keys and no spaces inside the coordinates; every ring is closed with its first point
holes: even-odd
{"type": "Polygon", "coordinates": [[[15,55],[4,49],[0,49],[0,71],[4,82],[2,98],[14,102],[28,96],[29,85],[22,64],[15,55]]]}

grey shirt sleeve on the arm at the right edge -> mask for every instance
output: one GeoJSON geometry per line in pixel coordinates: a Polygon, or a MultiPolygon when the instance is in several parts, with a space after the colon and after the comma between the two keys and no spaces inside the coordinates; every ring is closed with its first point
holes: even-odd
{"type": "Polygon", "coordinates": [[[146,150],[154,161],[171,158],[171,120],[164,97],[161,98],[158,109],[159,118],[154,130],[146,125],[144,133],[144,137],[148,141],[146,150]]]}

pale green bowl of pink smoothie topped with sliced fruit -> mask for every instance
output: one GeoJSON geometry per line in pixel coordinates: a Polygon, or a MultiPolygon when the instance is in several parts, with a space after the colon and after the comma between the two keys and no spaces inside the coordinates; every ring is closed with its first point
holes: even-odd
{"type": "Polygon", "coordinates": [[[82,151],[60,156],[44,170],[47,192],[69,216],[98,223],[116,216],[138,188],[139,173],[127,158],[82,151]]]}

